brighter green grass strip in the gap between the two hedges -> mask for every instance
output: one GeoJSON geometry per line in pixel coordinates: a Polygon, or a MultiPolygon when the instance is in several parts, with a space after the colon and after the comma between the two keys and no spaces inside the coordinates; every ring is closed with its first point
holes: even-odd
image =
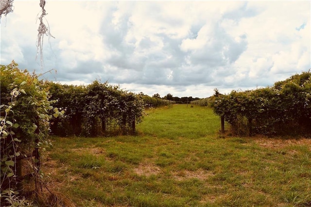
{"type": "Polygon", "coordinates": [[[220,128],[220,119],[210,108],[175,104],[172,109],[160,108],[147,113],[138,131],[155,137],[200,138],[215,135],[220,128]]]}

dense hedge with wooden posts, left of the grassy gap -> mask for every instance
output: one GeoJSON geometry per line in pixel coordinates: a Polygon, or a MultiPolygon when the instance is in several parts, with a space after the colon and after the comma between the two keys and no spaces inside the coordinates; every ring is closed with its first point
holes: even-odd
{"type": "Polygon", "coordinates": [[[60,136],[100,136],[111,133],[129,134],[140,121],[144,103],[134,93],[94,81],[88,86],[68,86],[49,82],[57,107],[65,114],[55,118],[52,133],[60,136]]]}

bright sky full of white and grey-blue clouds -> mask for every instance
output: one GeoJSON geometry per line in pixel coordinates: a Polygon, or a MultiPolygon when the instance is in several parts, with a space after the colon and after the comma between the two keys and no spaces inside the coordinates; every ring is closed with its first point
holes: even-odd
{"type": "Polygon", "coordinates": [[[310,1],[47,0],[44,22],[55,38],[44,36],[43,68],[39,2],[15,0],[2,15],[0,63],[14,59],[62,84],[99,80],[149,96],[206,98],[311,68],[310,1]]]}

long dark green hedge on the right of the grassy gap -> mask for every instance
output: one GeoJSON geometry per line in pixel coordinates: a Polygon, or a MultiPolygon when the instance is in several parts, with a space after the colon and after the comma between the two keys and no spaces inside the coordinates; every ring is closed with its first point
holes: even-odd
{"type": "Polygon", "coordinates": [[[214,96],[211,106],[239,135],[310,135],[311,72],[274,86],[214,96]]]}

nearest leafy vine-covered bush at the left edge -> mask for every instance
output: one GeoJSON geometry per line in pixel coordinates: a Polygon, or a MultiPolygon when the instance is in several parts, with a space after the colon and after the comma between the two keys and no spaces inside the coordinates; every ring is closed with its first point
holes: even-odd
{"type": "Polygon", "coordinates": [[[17,66],[14,61],[0,66],[0,171],[4,197],[5,192],[16,190],[16,179],[21,175],[17,172],[17,160],[35,148],[44,151],[42,144],[48,144],[50,120],[62,115],[52,106],[56,101],[50,100],[38,76],[17,66]]]}

